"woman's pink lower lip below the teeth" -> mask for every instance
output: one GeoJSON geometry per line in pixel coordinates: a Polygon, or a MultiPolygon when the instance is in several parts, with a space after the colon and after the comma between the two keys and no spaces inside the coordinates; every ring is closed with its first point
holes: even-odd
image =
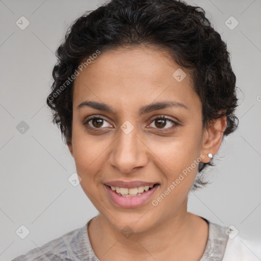
{"type": "Polygon", "coordinates": [[[143,204],[149,201],[149,199],[152,197],[152,195],[154,194],[156,189],[158,189],[159,186],[159,184],[155,185],[150,190],[143,192],[140,196],[123,197],[121,195],[118,195],[116,191],[111,190],[110,186],[105,185],[107,193],[110,199],[113,201],[113,203],[117,206],[124,208],[134,208],[142,206],[143,204]]]}

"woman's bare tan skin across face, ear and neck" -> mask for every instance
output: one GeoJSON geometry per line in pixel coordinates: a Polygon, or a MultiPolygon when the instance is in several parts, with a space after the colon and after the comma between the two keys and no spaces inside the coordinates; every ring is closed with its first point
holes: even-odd
{"type": "Polygon", "coordinates": [[[187,212],[188,193],[196,177],[194,168],[157,206],[158,198],[179,173],[204,154],[210,161],[221,145],[226,118],[202,126],[202,104],[193,90],[189,72],[181,82],[172,74],[180,68],[168,54],[149,47],[116,48],[101,53],[74,81],[72,139],[69,150],[75,160],[81,186],[99,214],[88,227],[91,245],[101,261],[199,260],[208,235],[207,223],[187,212]],[[77,106],[85,101],[103,102],[116,113],[77,106]],[[139,116],[152,102],[172,100],[188,107],[166,108],[139,116]],[[91,115],[106,121],[84,122],[91,115]],[[179,123],[165,121],[165,116],[179,123]],[[134,126],[125,134],[120,126],[134,126]],[[96,125],[95,125],[96,124],[96,125]],[[98,126],[95,127],[94,126],[98,126]],[[162,127],[161,127],[162,126],[162,127]],[[171,129],[171,127],[175,126],[171,129]],[[105,182],[142,180],[160,187],[148,203],[121,208],[107,195],[105,182]],[[128,226],[131,237],[121,230],[128,226]],[[188,251],[189,250],[189,251],[188,251]]]}

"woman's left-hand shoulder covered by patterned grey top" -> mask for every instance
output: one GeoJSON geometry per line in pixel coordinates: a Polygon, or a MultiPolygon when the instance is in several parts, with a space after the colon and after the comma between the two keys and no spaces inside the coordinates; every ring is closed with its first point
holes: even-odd
{"type": "Polygon", "coordinates": [[[62,237],[49,241],[41,247],[34,248],[26,254],[19,255],[11,261],[61,261],[78,260],[73,249],[81,248],[81,241],[86,225],[72,230],[62,237]]]}

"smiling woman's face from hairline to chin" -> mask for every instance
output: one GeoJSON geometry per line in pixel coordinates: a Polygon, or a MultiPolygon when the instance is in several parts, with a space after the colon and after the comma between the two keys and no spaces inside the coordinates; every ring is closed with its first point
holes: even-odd
{"type": "Polygon", "coordinates": [[[117,48],[101,53],[74,81],[68,146],[84,192],[116,228],[144,231],[187,211],[206,142],[201,101],[189,73],[182,69],[183,80],[174,73],[179,68],[160,51],[117,48]]]}

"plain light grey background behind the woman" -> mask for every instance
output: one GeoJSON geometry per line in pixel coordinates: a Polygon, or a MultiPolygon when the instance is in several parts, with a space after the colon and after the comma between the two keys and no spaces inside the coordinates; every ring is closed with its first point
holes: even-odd
{"type": "MultiPolygon", "coordinates": [[[[50,122],[45,100],[56,62],[54,53],[66,28],[99,3],[0,0],[0,260],[40,247],[97,215],[80,185],[73,187],[68,182],[76,171],[74,160],[59,129],[50,122]],[[21,16],[30,21],[25,30],[16,25],[21,16]],[[21,121],[29,125],[23,134],[16,128],[21,121]],[[30,230],[23,240],[15,232],[21,225],[30,230]]],[[[192,193],[188,208],[214,223],[234,225],[240,236],[260,242],[261,1],[188,3],[203,7],[227,42],[242,90],[239,129],[225,139],[217,167],[207,172],[213,183],[192,193]],[[233,30],[225,24],[230,16],[239,21],[233,30]]]]}

